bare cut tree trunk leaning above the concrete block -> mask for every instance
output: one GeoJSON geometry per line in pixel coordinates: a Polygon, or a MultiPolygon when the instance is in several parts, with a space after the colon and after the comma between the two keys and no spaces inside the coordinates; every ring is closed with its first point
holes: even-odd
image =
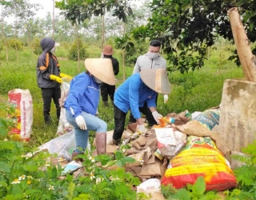
{"type": "Polygon", "coordinates": [[[242,70],[248,81],[256,82],[255,57],[251,52],[250,42],[238,14],[238,8],[234,7],[228,10],[228,15],[242,70]]]}

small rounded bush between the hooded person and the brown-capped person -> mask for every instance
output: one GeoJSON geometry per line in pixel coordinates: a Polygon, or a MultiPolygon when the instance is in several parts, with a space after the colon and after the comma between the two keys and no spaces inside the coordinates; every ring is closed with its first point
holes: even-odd
{"type": "Polygon", "coordinates": [[[80,59],[83,60],[83,59],[87,58],[87,56],[88,56],[86,49],[84,48],[84,46],[82,44],[82,40],[78,39],[75,42],[73,42],[73,44],[69,50],[68,58],[72,61],[78,61],[78,46],[79,46],[80,59]]]}

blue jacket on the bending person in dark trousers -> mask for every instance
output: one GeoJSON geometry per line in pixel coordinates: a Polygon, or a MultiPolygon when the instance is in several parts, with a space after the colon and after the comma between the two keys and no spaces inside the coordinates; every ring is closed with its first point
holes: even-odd
{"type": "Polygon", "coordinates": [[[140,74],[134,74],[127,78],[125,82],[114,93],[114,105],[127,113],[131,111],[134,118],[141,118],[138,107],[143,107],[147,103],[148,107],[155,107],[155,98],[157,93],[146,86],[140,74]]]}

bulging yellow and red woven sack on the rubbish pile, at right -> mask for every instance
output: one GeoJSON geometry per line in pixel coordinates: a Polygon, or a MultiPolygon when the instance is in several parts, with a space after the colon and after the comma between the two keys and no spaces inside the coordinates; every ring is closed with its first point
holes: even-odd
{"type": "Polygon", "coordinates": [[[188,136],[183,150],[170,160],[162,184],[179,189],[202,176],[206,190],[228,190],[237,186],[230,164],[209,137],[188,136]]]}

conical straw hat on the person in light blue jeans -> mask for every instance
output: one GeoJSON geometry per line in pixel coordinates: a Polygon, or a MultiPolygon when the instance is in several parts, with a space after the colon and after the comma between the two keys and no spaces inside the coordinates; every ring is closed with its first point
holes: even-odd
{"type": "Polygon", "coordinates": [[[102,82],[115,85],[114,71],[110,58],[86,58],[86,69],[102,82]]]}

